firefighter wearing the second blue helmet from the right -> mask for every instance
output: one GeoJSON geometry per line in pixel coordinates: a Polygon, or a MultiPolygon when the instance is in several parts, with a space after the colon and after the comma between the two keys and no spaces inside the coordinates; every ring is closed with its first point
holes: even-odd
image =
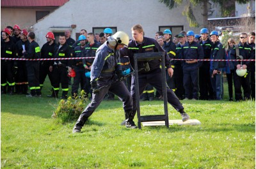
{"type": "MultiPolygon", "coordinates": [[[[208,33],[208,29],[206,28],[203,28],[200,31],[200,34],[202,36],[202,41],[200,41],[200,45],[204,49],[204,59],[210,58],[212,50],[212,42],[208,38],[208,33]]],[[[199,68],[199,90],[199,99],[213,99],[209,61],[203,61],[202,65],[199,68]]]]}

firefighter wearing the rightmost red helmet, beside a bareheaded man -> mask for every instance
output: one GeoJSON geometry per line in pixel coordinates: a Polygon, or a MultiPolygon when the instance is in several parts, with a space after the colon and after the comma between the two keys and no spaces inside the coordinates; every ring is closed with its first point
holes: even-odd
{"type": "MultiPolygon", "coordinates": [[[[52,58],[54,48],[56,47],[56,43],[54,42],[55,37],[52,32],[49,32],[46,34],[45,38],[47,42],[41,48],[41,58],[49,59],[49,58],[52,58]]],[[[52,73],[49,70],[50,66],[51,66],[51,61],[40,61],[39,82],[40,82],[41,90],[42,90],[42,87],[44,86],[44,80],[47,77],[47,75],[52,85],[52,73]]]]}

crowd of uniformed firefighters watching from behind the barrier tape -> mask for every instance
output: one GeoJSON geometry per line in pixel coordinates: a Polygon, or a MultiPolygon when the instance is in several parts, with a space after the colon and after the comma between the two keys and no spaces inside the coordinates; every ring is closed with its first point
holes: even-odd
{"type": "MultiPolygon", "coordinates": [[[[1,58],[56,59],[1,59],[1,94],[16,93],[26,94],[27,97],[41,97],[48,75],[52,85],[52,93],[47,95],[49,97],[59,97],[61,84],[61,98],[67,99],[70,78],[74,78],[71,91],[73,98],[76,98],[79,86],[88,97],[92,96],[90,71],[94,57],[100,45],[108,41],[112,34],[110,28],[104,29],[100,34],[87,33],[85,29],[81,29],[78,40],[74,40],[67,30],[59,36],[57,42],[54,34],[49,32],[45,35],[47,42],[39,47],[35,41],[35,33],[20,29],[18,25],[6,27],[1,31],[1,58]],[[86,59],[61,59],[67,57],[86,59]]],[[[207,28],[201,29],[199,34],[181,31],[172,36],[172,31],[166,29],[164,32],[157,32],[155,40],[171,59],[173,76],[170,77],[166,73],[166,83],[179,99],[223,99],[223,75],[227,76],[230,101],[255,99],[255,61],[248,60],[255,59],[254,32],[241,33],[237,42],[230,38],[228,48],[224,48],[220,42],[217,31],[209,32],[207,28]],[[218,61],[214,61],[216,59],[218,61]],[[231,61],[228,61],[230,59],[231,61]]],[[[122,73],[127,75],[133,71],[130,59],[122,52],[120,55],[122,73]]],[[[147,63],[145,65],[147,66],[147,63]]],[[[124,83],[131,91],[131,77],[125,77],[124,83]]],[[[114,94],[108,92],[105,98],[113,99],[114,94]]],[[[163,99],[163,96],[148,84],[141,99],[152,101],[163,99]]]]}

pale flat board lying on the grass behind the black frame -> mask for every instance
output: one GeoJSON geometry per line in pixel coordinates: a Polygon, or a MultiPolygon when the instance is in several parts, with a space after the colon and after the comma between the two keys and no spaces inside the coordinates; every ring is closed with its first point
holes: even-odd
{"type": "MultiPolygon", "coordinates": [[[[164,126],[164,121],[147,121],[141,122],[143,126],[164,126]]],[[[188,121],[182,122],[182,120],[169,120],[169,125],[200,125],[201,122],[196,119],[189,119],[188,121]]]]}

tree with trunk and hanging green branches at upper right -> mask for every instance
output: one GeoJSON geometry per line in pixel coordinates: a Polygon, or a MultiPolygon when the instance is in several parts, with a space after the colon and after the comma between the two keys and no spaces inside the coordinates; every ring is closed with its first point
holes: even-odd
{"type": "MultiPolygon", "coordinates": [[[[213,3],[218,3],[221,6],[222,17],[227,17],[232,11],[234,11],[234,3],[232,6],[227,6],[227,3],[236,0],[212,0],[213,3]]],[[[237,0],[237,3],[244,4],[248,3],[250,0],[237,0]]],[[[190,27],[199,27],[198,21],[193,14],[193,7],[202,6],[202,16],[203,16],[203,27],[207,27],[208,24],[208,0],[159,0],[160,3],[166,4],[170,10],[177,6],[184,5],[184,10],[182,15],[185,15],[188,19],[190,27]]],[[[230,3],[229,3],[230,4],[230,3]]]]}

